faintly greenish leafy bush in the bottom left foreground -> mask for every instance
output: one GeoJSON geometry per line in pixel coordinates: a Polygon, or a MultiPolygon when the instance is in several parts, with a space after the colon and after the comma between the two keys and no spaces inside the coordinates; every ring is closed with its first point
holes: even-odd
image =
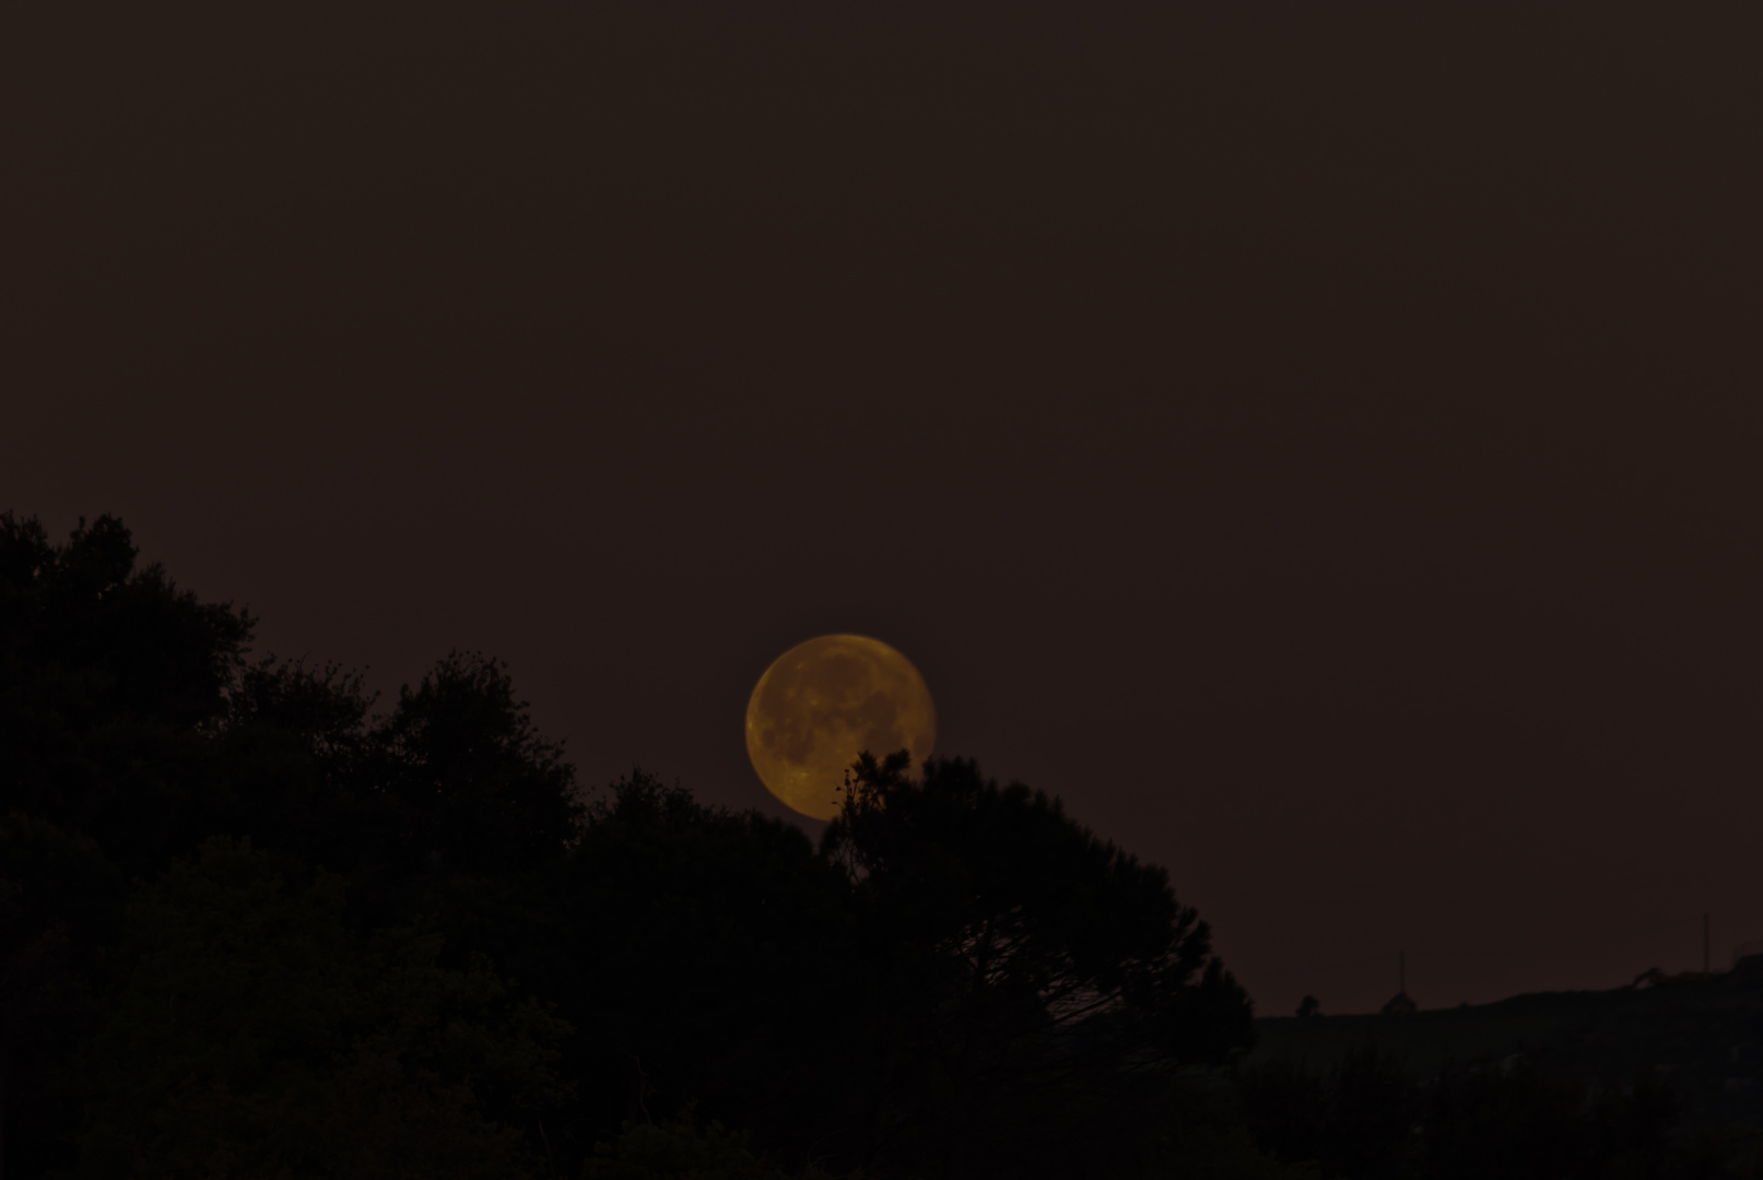
{"type": "Polygon", "coordinates": [[[224,838],[130,905],[122,979],[76,1057],[72,1175],[518,1176],[568,1099],[568,1029],[439,939],[363,937],[344,882],[224,838]]]}

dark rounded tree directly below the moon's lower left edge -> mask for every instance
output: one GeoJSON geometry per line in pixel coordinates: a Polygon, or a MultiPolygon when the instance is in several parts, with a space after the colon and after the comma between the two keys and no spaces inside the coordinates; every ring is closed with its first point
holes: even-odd
{"type": "Polygon", "coordinates": [[[866,965],[850,886],[799,828],[638,770],[591,810],[557,896],[569,937],[547,988],[599,1078],[580,1134],[698,1099],[785,1154],[850,1147],[866,965]]]}

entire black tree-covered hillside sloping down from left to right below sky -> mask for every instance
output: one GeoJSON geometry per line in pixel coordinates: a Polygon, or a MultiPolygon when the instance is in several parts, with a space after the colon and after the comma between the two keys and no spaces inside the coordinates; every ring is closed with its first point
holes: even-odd
{"type": "Polygon", "coordinates": [[[1252,1057],[1169,875],[971,761],[864,754],[816,847],[642,770],[584,787],[490,657],[383,706],[254,625],[113,518],[0,516],[4,1175],[1754,1166],[1744,1110],[1588,1071],[1608,1027],[1513,1066],[1428,1057],[1435,1013],[1306,1013],[1252,1057]]]}

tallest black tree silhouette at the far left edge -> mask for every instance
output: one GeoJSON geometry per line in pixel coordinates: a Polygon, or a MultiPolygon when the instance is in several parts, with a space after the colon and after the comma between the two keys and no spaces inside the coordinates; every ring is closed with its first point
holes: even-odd
{"type": "Polygon", "coordinates": [[[55,546],[0,514],[0,810],[83,831],[129,872],[194,849],[205,734],[250,631],[231,604],[136,569],[115,518],[55,546]]]}

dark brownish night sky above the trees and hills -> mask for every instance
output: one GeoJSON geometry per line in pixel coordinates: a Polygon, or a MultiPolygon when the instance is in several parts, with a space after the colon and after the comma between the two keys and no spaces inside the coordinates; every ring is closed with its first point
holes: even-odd
{"type": "Polygon", "coordinates": [[[1763,7],[11,4],[0,507],[770,803],[829,631],[1261,1011],[1763,939],[1763,7]]]}

